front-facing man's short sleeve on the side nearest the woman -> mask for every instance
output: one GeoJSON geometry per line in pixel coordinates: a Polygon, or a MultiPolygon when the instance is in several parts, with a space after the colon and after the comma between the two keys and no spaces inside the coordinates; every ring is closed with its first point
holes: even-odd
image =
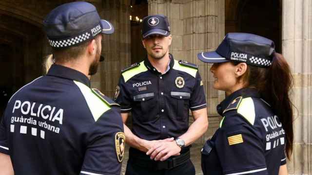
{"type": "Polygon", "coordinates": [[[198,71],[196,73],[195,81],[195,86],[190,99],[190,109],[192,111],[207,107],[204,86],[198,71]]]}

